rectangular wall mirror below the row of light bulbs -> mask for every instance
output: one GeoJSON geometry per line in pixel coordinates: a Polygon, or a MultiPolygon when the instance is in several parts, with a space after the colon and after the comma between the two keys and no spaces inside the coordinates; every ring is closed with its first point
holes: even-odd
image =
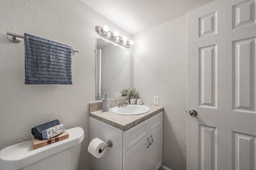
{"type": "Polygon", "coordinates": [[[96,38],[96,99],[130,88],[130,51],[96,38]]]}

